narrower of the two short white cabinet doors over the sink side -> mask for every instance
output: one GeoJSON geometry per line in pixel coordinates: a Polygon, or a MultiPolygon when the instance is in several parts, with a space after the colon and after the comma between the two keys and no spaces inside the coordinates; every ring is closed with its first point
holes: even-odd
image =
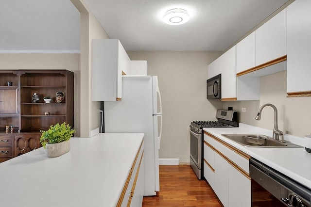
{"type": "Polygon", "coordinates": [[[256,31],[237,44],[237,74],[256,66],[256,31]]]}

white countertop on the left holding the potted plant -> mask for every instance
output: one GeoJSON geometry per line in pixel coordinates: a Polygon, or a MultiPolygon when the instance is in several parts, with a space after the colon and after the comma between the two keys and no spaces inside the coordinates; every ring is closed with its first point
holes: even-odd
{"type": "Polygon", "coordinates": [[[143,134],[71,138],[48,158],[41,147],[0,163],[0,206],[115,207],[143,134]]]}

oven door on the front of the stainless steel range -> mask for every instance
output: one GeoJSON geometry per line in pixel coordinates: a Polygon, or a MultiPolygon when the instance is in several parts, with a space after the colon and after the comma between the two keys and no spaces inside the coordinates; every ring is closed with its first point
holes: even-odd
{"type": "Polygon", "coordinates": [[[190,165],[199,179],[202,168],[202,134],[190,129],[190,165]],[[191,163],[193,161],[193,163],[191,163]],[[193,165],[194,164],[194,165],[193,165]]]}

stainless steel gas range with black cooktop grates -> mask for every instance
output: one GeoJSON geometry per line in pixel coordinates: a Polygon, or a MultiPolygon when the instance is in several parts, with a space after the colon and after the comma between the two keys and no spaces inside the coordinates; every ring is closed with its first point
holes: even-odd
{"type": "Polygon", "coordinates": [[[193,121],[190,124],[190,165],[199,180],[203,178],[203,128],[239,127],[237,111],[217,110],[217,121],[193,121]]]}

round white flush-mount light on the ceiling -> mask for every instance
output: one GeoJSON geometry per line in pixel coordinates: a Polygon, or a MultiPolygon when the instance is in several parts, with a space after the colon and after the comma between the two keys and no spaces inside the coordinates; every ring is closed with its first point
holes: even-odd
{"type": "Polygon", "coordinates": [[[164,14],[163,20],[170,25],[184,24],[189,20],[189,14],[184,9],[171,9],[164,14]]]}

